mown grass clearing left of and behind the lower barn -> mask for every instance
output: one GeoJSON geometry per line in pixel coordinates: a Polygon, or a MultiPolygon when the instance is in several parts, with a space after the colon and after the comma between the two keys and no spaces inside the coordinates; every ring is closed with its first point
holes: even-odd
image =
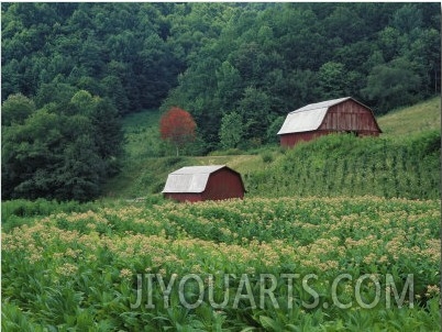
{"type": "MultiPolygon", "coordinates": [[[[124,118],[125,156],[119,176],[104,187],[104,196],[118,198],[145,197],[158,193],[167,175],[188,165],[229,165],[240,171],[264,167],[258,155],[175,156],[175,148],[159,139],[157,111],[130,114],[124,118]]],[[[194,146],[194,150],[197,147],[194,146]]]]}

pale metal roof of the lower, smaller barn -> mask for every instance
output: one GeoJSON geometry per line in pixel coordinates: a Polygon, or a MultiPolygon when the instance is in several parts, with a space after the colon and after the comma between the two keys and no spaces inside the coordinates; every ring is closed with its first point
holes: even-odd
{"type": "Polygon", "coordinates": [[[210,174],[225,165],[188,166],[170,173],[163,192],[202,192],[210,174]]]}

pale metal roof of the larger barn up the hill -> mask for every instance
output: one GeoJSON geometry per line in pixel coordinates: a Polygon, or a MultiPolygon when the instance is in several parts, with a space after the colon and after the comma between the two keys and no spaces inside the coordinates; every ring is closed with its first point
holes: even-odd
{"type": "Polygon", "coordinates": [[[278,135],[317,130],[321,125],[329,108],[347,99],[352,98],[345,97],[310,103],[288,113],[278,135]]]}

